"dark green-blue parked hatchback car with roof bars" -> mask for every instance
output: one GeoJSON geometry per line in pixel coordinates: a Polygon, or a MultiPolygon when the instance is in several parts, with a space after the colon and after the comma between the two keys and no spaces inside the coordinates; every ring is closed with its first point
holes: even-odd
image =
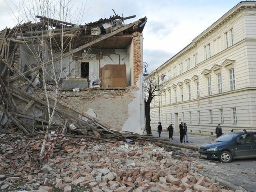
{"type": "Polygon", "coordinates": [[[198,148],[202,158],[229,163],[232,159],[256,158],[256,130],[235,130],[198,148]]]}

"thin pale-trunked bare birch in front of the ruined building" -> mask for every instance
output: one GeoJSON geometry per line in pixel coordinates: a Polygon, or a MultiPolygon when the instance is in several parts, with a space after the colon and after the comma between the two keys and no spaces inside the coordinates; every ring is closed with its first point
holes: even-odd
{"type": "MultiPolygon", "coordinates": [[[[66,122],[59,122],[60,118],[56,116],[56,109],[59,107],[58,98],[63,86],[62,78],[71,75],[65,72],[67,66],[64,63],[72,62],[73,37],[78,32],[78,30],[70,32],[67,29],[74,27],[74,24],[71,23],[73,20],[76,21],[76,24],[81,24],[84,13],[83,5],[79,5],[80,11],[77,9],[76,12],[72,12],[74,3],[75,1],[72,0],[27,0],[22,3],[23,7],[18,7],[20,12],[16,16],[18,23],[26,20],[31,23],[30,20],[40,19],[40,22],[35,22],[35,26],[31,26],[29,31],[24,32],[24,25],[18,25],[16,28],[20,41],[24,42],[19,45],[19,49],[25,56],[15,72],[18,72],[18,76],[34,87],[32,93],[36,94],[36,89],[40,89],[40,92],[43,90],[47,103],[46,119],[48,124],[39,155],[41,160],[44,156],[50,127],[59,124],[63,129],[66,128],[66,122]],[[78,12],[80,18],[74,18],[75,13],[78,12]],[[67,54],[69,52],[71,53],[67,54]],[[31,58],[33,59],[31,60],[31,58]],[[28,73],[24,75],[26,71],[28,73]]],[[[10,41],[14,42],[14,40],[10,41]]]]}

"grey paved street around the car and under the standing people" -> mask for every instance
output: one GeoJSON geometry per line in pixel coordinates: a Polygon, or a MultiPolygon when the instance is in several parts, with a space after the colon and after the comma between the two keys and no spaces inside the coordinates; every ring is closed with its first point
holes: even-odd
{"type": "MultiPolygon", "coordinates": [[[[158,132],[152,132],[154,137],[158,137],[158,132]]],[[[168,132],[162,132],[161,138],[168,139],[168,132]]],[[[214,140],[214,136],[202,136],[188,134],[189,143],[184,145],[199,147],[200,145],[214,140]]],[[[175,132],[170,142],[180,144],[180,134],[175,132]]],[[[214,178],[218,182],[229,186],[233,190],[246,190],[256,192],[256,159],[232,160],[230,163],[221,163],[217,160],[198,160],[204,165],[201,173],[209,178],[214,178]]]]}

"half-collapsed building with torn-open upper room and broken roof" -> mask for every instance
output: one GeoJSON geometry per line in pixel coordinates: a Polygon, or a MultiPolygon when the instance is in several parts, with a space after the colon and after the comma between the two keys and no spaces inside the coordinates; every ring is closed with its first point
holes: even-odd
{"type": "Polygon", "coordinates": [[[147,18],[124,24],[135,16],[115,15],[77,25],[36,17],[40,22],[0,32],[1,128],[44,130],[47,108],[54,108],[53,130],[97,122],[141,133],[147,18]]]}

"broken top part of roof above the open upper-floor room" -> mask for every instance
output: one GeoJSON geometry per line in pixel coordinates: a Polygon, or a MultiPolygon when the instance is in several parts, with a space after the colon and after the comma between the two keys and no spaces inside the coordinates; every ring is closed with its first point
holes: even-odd
{"type": "MultiPolygon", "coordinates": [[[[55,48],[58,48],[60,42],[60,36],[64,33],[65,39],[73,38],[72,49],[76,49],[88,42],[100,38],[106,34],[112,34],[115,30],[121,29],[118,35],[111,36],[110,39],[104,38],[100,42],[92,44],[92,48],[126,48],[131,42],[133,32],[142,32],[147,22],[147,18],[141,18],[136,22],[125,25],[124,20],[134,18],[111,16],[110,18],[100,19],[96,22],[91,22],[85,25],[72,24],[60,20],[46,18],[42,16],[36,16],[40,19],[38,23],[27,22],[12,29],[7,28],[0,32],[0,39],[6,38],[11,42],[17,42],[21,44],[31,43],[38,41],[38,39],[48,38],[49,31],[52,33],[52,37],[55,38],[55,48]],[[128,27],[127,27],[128,26],[128,27]]],[[[64,44],[65,47],[66,44],[64,44]]],[[[67,45],[66,45],[67,46],[67,45]]]]}

